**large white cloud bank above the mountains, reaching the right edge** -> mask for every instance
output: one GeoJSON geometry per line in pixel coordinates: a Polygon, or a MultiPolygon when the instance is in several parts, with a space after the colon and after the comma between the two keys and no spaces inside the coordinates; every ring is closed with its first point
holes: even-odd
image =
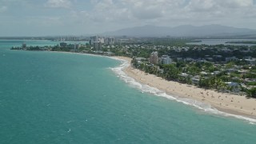
{"type": "Polygon", "coordinates": [[[246,18],[253,22],[256,15],[254,0],[90,0],[90,4],[90,10],[76,11],[74,19],[116,27],[228,22],[234,26],[235,21],[246,22],[246,18]]]}

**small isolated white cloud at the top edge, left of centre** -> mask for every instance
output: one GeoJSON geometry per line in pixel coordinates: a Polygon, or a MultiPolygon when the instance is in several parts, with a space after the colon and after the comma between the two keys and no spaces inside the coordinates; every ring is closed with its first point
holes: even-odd
{"type": "Polygon", "coordinates": [[[45,6],[52,8],[70,8],[72,3],[69,0],[48,0],[45,6]]]}

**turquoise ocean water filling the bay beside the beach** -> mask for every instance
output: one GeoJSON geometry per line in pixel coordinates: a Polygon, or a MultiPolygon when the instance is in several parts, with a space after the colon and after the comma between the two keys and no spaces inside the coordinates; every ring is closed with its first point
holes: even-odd
{"type": "Polygon", "coordinates": [[[143,92],[122,62],[21,44],[0,41],[0,143],[256,143],[256,125],[143,92]]]}

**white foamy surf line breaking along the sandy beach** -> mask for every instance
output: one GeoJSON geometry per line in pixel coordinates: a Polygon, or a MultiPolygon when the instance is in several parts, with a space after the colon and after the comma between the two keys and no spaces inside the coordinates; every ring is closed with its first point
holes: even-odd
{"type": "Polygon", "coordinates": [[[250,122],[250,124],[256,124],[256,119],[254,119],[254,118],[246,118],[241,115],[228,114],[228,113],[219,111],[204,102],[199,102],[199,101],[191,99],[191,98],[180,98],[178,96],[172,96],[172,95],[166,94],[166,92],[163,90],[158,90],[155,87],[148,86],[148,85],[142,84],[140,82],[137,82],[137,81],[135,81],[134,78],[129,77],[123,71],[124,68],[130,66],[130,63],[128,61],[120,59],[120,58],[114,58],[114,59],[121,61],[122,64],[118,67],[114,67],[114,68],[110,68],[110,69],[113,70],[114,73],[117,74],[118,77],[122,79],[122,81],[126,82],[131,87],[134,87],[138,90],[142,90],[142,92],[145,92],[145,93],[154,94],[156,96],[168,98],[168,99],[174,100],[176,102],[182,102],[183,104],[186,104],[189,106],[194,106],[200,110],[205,111],[208,114],[217,114],[217,115],[222,115],[222,116],[226,116],[226,117],[239,118],[239,119],[246,120],[246,121],[250,122]]]}

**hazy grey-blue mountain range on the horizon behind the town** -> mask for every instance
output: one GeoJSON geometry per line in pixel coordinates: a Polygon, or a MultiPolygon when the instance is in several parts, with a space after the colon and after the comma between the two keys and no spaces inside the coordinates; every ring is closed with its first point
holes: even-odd
{"type": "Polygon", "coordinates": [[[136,26],[122,30],[115,30],[104,33],[104,35],[115,36],[166,36],[171,37],[206,37],[206,36],[234,36],[256,34],[256,30],[246,28],[235,28],[231,26],[206,25],[206,26],[136,26]]]}

